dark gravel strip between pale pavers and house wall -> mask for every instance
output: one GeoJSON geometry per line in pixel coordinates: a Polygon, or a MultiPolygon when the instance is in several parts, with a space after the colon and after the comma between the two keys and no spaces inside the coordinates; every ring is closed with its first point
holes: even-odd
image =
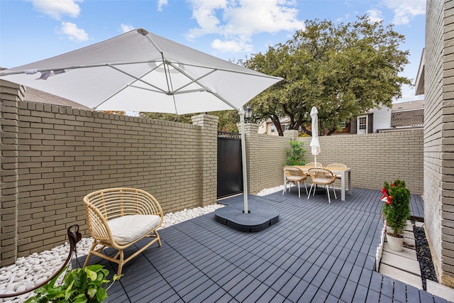
{"type": "Polygon", "coordinates": [[[413,232],[416,246],[416,257],[418,258],[419,268],[421,269],[423,290],[427,290],[426,280],[431,280],[438,283],[438,279],[435,268],[433,267],[431,250],[428,247],[424,227],[417,227],[413,225],[413,232]]]}

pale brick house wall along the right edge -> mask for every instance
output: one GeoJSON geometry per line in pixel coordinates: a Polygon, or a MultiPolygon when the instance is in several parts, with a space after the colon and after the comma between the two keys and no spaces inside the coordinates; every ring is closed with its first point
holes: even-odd
{"type": "Polygon", "coordinates": [[[439,280],[454,285],[454,1],[428,0],[424,221],[439,280]]]}

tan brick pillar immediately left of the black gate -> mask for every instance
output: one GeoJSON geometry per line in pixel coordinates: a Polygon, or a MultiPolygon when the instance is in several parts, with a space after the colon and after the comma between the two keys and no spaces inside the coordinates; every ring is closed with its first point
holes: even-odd
{"type": "Polygon", "coordinates": [[[218,116],[192,116],[192,124],[200,131],[200,206],[216,203],[218,194],[218,116]]]}

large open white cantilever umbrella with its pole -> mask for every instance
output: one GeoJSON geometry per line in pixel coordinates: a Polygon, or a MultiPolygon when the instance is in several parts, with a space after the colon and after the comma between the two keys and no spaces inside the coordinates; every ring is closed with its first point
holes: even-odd
{"type": "Polygon", "coordinates": [[[192,114],[236,109],[242,121],[244,146],[242,106],[282,78],[249,70],[139,28],[70,53],[2,70],[0,79],[95,110],[192,114]]]}

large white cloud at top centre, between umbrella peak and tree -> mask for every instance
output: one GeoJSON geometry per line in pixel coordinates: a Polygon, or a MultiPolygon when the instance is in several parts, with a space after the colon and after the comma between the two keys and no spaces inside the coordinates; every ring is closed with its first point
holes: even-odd
{"type": "Polygon", "coordinates": [[[190,0],[192,17],[199,27],[191,28],[187,38],[202,35],[221,35],[211,45],[221,51],[250,51],[252,35],[277,33],[304,28],[297,18],[298,10],[292,0],[190,0]]]}

